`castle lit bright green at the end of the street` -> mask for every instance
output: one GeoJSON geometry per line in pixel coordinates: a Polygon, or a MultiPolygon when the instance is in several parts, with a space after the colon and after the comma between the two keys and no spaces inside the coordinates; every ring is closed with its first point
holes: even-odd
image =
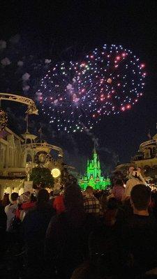
{"type": "Polygon", "coordinates": [[[92,186],[95,190],[105,190],[110,186],[110,179],[101,176],[100,161],[95,148],[93,160],[87,161],[87,173],[79,179],[79,185],[83,190],[87,186],[92,186]]]}

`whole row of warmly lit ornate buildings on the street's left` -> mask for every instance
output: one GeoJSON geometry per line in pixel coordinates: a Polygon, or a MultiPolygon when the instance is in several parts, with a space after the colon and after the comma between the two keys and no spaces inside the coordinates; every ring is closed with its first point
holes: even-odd
{"type": "Polygon", "coordinates": [[[38,165],[36,158],[40,157],[43,167],[59,167],[63,163],[63,151],[60,147],[47,142],[36,142],[36,135],[29,132],[16,135],[9,128],[0,132],[0,196],[3,193],[24,192],[24,181],[29,180],[31,169],[38,165]],[[58,159],[53,159],[52,151],[58,153],[58,159]],[[51,153],[51,154],[50,154],[51,153]]]}

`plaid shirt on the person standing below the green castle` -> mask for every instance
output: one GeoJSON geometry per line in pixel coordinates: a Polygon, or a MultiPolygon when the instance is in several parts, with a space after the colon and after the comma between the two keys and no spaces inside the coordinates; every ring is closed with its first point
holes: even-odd
{"type": "Polygon", "coordinates": [[[102,215],[102,209],[100,203],[96,197],[85,196],[84,197],[84,210],[87,213],[93,213],[96,216],[102,215]]]}

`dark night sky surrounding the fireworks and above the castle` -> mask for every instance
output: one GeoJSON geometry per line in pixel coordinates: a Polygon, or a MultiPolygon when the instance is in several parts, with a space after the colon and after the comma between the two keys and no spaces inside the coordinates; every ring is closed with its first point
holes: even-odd
{"type": "MultiPolygon", "coordinates": [[[[148,140],[149,129],[151,135],[156,133],[157,2],[1,1],[0,13],[0,39],[8,40],[18,33],[24,52],[36,53],[39,58],[77,60],[105,43],[123,45],[140,57],[147,71],[144,96],[132,110],[104,117],[93,130],[103,165],[113,165],[117,156],[121,163],[129,162],[140,143],[148,140]]],[[[20,88],[14,87],[16,90],[20,88]]],[[[47,119],[42,121],[47,123],[47,119]]],[[[45,128],[45,137],[61,144],[68,163],[82,170],[93,146],[88,135],[50,138],[45,128]]]]}

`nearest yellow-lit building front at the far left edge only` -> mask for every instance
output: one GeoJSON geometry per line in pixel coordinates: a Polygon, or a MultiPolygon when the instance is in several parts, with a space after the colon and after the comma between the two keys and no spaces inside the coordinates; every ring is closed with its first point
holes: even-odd
{"type": "Polygon", "coordinates": [[[0,194],[22,193],[25,165],[22,144],[24,139],[9,128],[0,133],[0,194]]]}

